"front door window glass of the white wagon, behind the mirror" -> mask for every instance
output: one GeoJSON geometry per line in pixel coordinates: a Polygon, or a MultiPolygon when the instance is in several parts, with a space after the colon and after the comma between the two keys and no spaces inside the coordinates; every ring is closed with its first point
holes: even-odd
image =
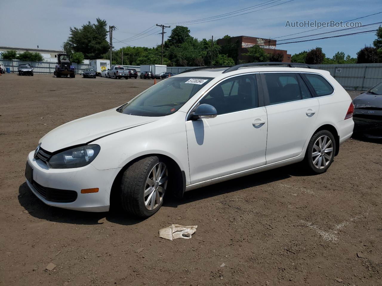
{"type": "Polygon", "coordinates": [[[227,79],[215,86],[201,101],[216,108],[217,114],[225,114],[258,106],[256,77],[245,75],[227,79]]]}

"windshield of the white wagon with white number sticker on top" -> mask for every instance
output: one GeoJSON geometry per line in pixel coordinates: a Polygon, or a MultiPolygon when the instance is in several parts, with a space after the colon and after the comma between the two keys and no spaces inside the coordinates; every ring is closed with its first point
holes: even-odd
{"type": "Polygon", "coordinates": [[[138,116],[165,116],[176,112],[211,77],[169,77],[153,85],[117,110],[138,116]]]}

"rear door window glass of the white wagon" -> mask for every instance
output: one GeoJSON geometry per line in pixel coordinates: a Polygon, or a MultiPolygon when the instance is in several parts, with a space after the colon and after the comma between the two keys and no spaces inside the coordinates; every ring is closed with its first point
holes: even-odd
{"type": "Polygon", "coordinates": [[[269,94],[269,104],[284,103],[311,97],[308,88],[299,85],[294,73],[265,73],[265,84],[269,94]],[[303,93],[303,95],[301,94],[303,93]]]}

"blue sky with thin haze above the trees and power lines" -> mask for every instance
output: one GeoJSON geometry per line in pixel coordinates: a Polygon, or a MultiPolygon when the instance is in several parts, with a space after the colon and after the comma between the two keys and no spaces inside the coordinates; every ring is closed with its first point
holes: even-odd
{"type": "MultiPolygon", "coordinates": [[[[113,33],[118,40],[138,34],[155,24],[189,21],[207,18],[249,6],[266,0],[150,0],[150,1],[24,1],[0,0],[2,10],[1,45],[11,47],[60,48],[67,39],[69,27],[80,27],[87,21],[100,17],[118,28],[113,33]]],[[[282,0],[283,3],[288,0],[282,0]]],[[[276,4],[276,3],[275,3],[276,4]]],[[[262,7],[263,8],[263,7],[262,7]]],[[[309,30],[311,28],[285,27],[286,21],[347,21],[382,11],[381,0],[293,0],[262,11],[241,15],[220,21],[183,25],[188,26],[191,35],[198,39],[214,39],[224,35],[247,35],[274,38],[309,30]]],[[[382,21],[382,14],[360,19],[363,25],[382,21]]],[[[171,25],[165,38],[170,35],[171,25]]],[[[301,35],[333,31],[340,28],[324,28],[301,35]]],[[[371,27],[376,29],[376,27],[371,27]]],[[[159,27],[157,28],[158,32],[159,27]]],[[[369,30],[369,29],[368,29],[369,30]]],[[[155,33],[156,29],[149,32],[155,33]]],[[[366,31],[358,30],[358,31],[366,31]]],[[[354,31],[354,32],[358,32],[354,31]]],[[[146,35],[144,35],[146,36],[146,35]]],[[[299,35],[296,35],[299,36],[299,35]]],[[[295,36],[292,36],[295,37],[295,36]]],[[[137,37],[139,38],[139,37],[137,37]]],[[[290,38],[290,37],[285,37],[290,38]]],[[[278,38],[281,40],[284,38],[278,38]]],[[[278,48],[294,54],[310,48],[322,47],[327,56],[344,51],[355,57],[356,52],[375,39],[374,33],[353,35],[334,39],[316,40],[305,43],[279,45],[278,48]]],[[[161,42],[161,35],[154,34],[127,42],[129,45],[151,47],[161,42]]],[[[280,42],[281,43],[281,42],[280,42]]],[[[114,47],[125,46],[114,40],[114,47]]]]}

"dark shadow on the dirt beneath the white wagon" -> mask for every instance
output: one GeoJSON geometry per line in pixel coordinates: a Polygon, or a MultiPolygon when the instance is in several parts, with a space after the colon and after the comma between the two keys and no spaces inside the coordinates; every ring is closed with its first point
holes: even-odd
{"type": "MultiPolygon", "coordinates": [[[[306,175],[298,165],[296,167],[286,166],[274,170],[265,171],[262,173],[248,175],[241,178],[236,178],[223,183],[206,186],[200,189],[192,190],[185,193],[181,199],[174,196],[167,196],[162,207],[176,208],[183,204],[199,201],[202,199],[219,196],[222,194],[233,193],[246,188],[256,187],[267,183],[282,181],[291,176],[306,175]]],[[[19,186],[19,203],[24,209],[37,219],[49,220],[58,223],[72,223],[78,225],[99,225],[102,219],[120,225],[134,225],[142,222],[144,219],[136,219],[126,217],[118,208],[111,208],[110,212],[81,212],[77,210],[61,209],[44,204],[40,201],[28,185],[23,183],[19,186]]]]}

